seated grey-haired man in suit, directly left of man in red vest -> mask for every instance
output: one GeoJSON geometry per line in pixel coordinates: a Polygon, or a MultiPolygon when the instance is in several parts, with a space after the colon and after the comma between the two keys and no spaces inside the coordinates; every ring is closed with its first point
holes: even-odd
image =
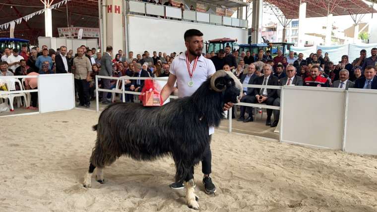
{"type": "MultiPolygon", "coordinates": [[[[295,86],[303,86],[303,78],[296,76],[296,67],[293,65],[287,65],[286,67],[287,76],[280,79],[279,85],[295,85],[295,86]]],[[[274,100],[274,106],[280,106],[280,90],[276,91],[277,98],[274,100]]],[[[279,122],[280,117],[280,110],[274,109],[274,122],[271,124],[271,127],[276,127],[277,123],[279,122]]]]}

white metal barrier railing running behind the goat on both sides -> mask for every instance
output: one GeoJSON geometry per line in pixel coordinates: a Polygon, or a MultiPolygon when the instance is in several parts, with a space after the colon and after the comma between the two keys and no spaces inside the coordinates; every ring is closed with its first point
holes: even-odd
{"type": "MultiPolygon", "coordinates": [[[[157,81],[168,81],[167,79],[161,79],[161,78],[153,78],[153,77],[128,77],[128,76],[123,76],[123,77],[108,77],[108,76],[99,76],[99,75],[96,75],[96,111],[99,112],[99,97],[98,97],[98,92],[99,91],[102,91],[102,92],[109,92],[109,93],[118,93],[118,94],[122,94],[122,97],[123,97],[123,102],[126,101],[126,98],[125,98],[125,94],[134,94],[134,95],[140,95],[141,93],[140,92],[133,92],[133,91],[125,91],[125,83],[124,83],[124,80],[130,80],[130,79],[133,79],[133,80],[146,80],[146,79],[153,79],[153,80],[157,80],[157,81]],[[119,80],[121,79],[123,82],[122,82],[122,91],[116,91],[116,90],[109,90],[109,89],[100,89],[98,88],[98,79],[99,78],[103,78],[103,79],[114,79],[114,80],[119,80]]],[[[281,89],[282,86],[271,86],[271,85],[243,85],[247,88],[266,88],[266,89],[281,89]]],[[[177,99],[178,97],[177,96],[169,96],[170,99],[177,99]]],[[[238,105],[238,106],[252,106],[252,107],[260,107],[260,108],[266,108],[266,109],[278,109],[280,110],[280,106],[268,106],[268,105],[265,105],[265,104],[251,104],[251,103],[238,103],[238,104],[235,104],[235,105],[238,105]]],[[[229,119],[229,124],[228,124],[228,132],[229,133],[232,133],[232,108],[229,109],[229,113],[230,116],[228,119],[229,119]]]]}

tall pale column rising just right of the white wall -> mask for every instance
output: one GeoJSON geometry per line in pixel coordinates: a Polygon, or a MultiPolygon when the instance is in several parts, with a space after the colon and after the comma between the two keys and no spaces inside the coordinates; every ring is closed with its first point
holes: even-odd
{"type": "Polygon", "coordinates": [[[251,43],[261,43],[262,38],[262,13],[263,13],[263,0],[252,1],[252,22],[251,28],[251,43]]]}

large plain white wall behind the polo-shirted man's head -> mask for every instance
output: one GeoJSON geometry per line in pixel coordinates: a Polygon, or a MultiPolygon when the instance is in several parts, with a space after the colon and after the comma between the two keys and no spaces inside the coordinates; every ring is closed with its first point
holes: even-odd
{"type": "MultiPolygon", "coordinates": [[[[240,28],[198,24],[184,21],[127,15],[129,23],[129,51],[180,53],[186,50],[184,34],[188,29],[200,30],[204,41],[216,38],[237,38],[239,44],[248,42],[248,31],[240,28]]],[[[205,45],[204,45],[205,48],[205,45]]]]}

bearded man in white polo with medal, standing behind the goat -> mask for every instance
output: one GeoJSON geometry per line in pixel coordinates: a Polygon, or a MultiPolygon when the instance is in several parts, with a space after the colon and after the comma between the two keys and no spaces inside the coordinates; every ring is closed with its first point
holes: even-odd
{"type": "MultiPolygon", "coordinates": [[[[174,91],[174,84],[177,81],[179,98],[191,96],[200,85],[216,72],[215,65],[210,59],[201,55],[203,50],[203,33],[196,29],[189,29],[185,32],[185,45],[187,51],[178,55],[170,66],[170,75],[167,84],[161,91],[163,102],[168,99],[174,91]]],[[[232,107],[232,103],[224,105],[224,110],[232,107]]],[[[214,127],[210,127],[209,134],[214,132],[214,127]]],[[[202,172],[204,174],[203,184],[207,194],[216,192],[216,187],[209,176],[211,173],[211,149],[203,154],[201,161],[202,172]]],[[[173,189],[184,188],[183,182],[175,182],[170,185],[173,189]]]]}

